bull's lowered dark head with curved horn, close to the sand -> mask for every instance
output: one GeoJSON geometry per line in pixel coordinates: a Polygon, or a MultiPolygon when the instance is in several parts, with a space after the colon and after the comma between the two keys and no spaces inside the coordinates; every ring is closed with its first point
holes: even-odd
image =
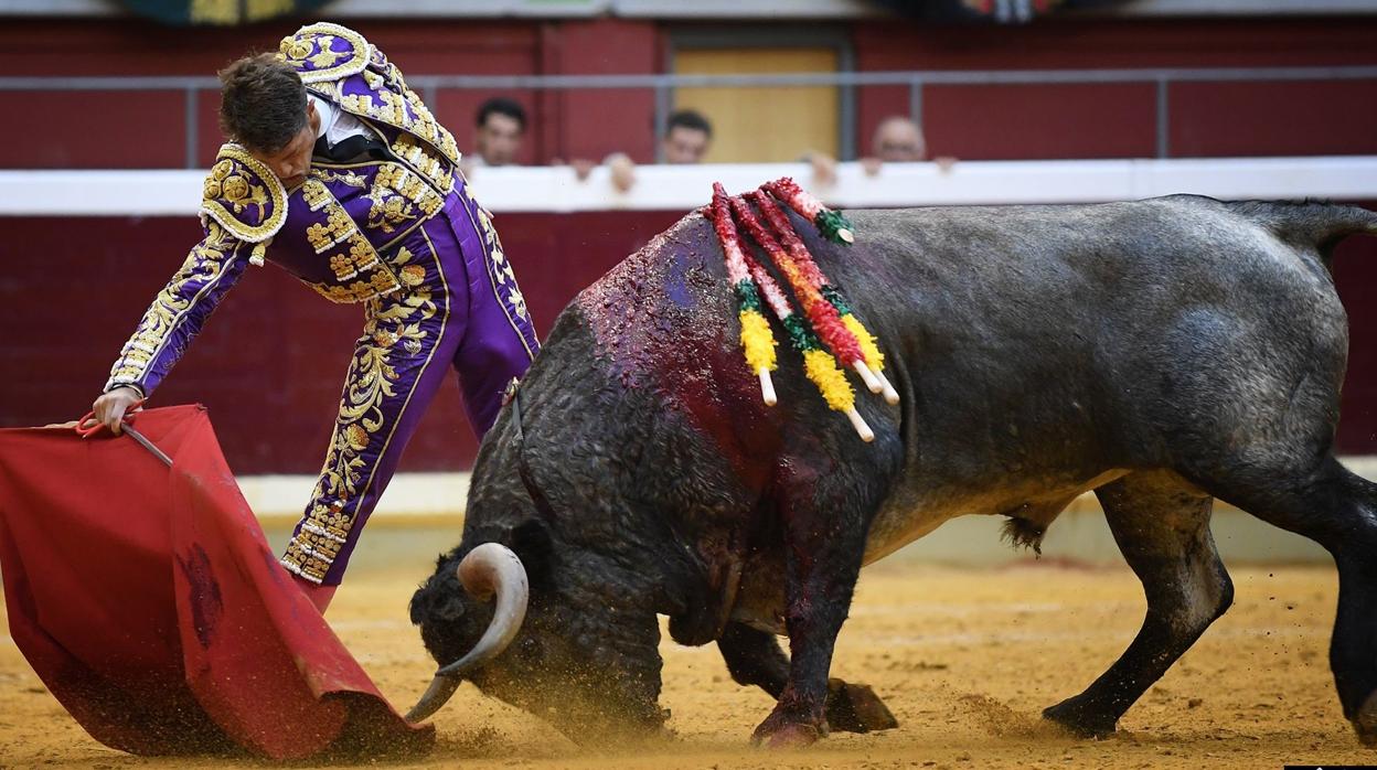
{"type": "Polygon", "coordinates": [[[606,581],[580,580],[606,574],[595,565],[578,559],[577,569],[566,568],[577,574],[556,576],[549,534],[537,521],[501,540],[442,556],[412,598],[412,623],[441,668],[408,719],[425,719],[468,679],[580,742],[658,730],[665,716],[653,612],[647,636],[643,623],[628,623],[606,581]]]}

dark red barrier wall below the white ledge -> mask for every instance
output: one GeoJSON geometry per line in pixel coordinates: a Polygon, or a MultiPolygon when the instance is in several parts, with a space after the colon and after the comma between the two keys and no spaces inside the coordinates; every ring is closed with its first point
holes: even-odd
{"type": "MultiPolygon", "coordinates": [[[[1367,205],[1377,208],[1377,201],[1367,205]]],[[[574,293],[679,216],[509,214],[500,215],[497,226],[544,336],[574,293]]],[[[0,218],[0,426],[70,420],[84,412],[143,309],[198,237],[191,218],[0,218]]],[[[1352,325],[1338,445],[1343,452],[1373,453],[1377,238],[1349,238],[1336,260],[1352,325]]],[[[330,304],[282,270],[251,269],[156,401],[207,404],[237,472],[315,472],[359,318],[358,307],[330,304]]],[[[448,384],[402,470],[467,468],[474,453],[459,388],[448,384]]]]}

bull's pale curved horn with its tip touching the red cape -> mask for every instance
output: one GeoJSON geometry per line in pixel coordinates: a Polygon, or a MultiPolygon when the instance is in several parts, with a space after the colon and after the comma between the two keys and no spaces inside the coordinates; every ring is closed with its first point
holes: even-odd
{"type": "Polygon", "coordinates": [[[481,602],[496,594],[493,621],[468,654],[435,672],[425,694],[406,714],[408,722],[420,722],[439,711],[465,674],[500,656],[512,643],[526,618],[526,602],[530,599],[526,568],[511,548],[498,543],[483,543],[474,548],[459,562],[459,581],[470,596],[481,602]]]}

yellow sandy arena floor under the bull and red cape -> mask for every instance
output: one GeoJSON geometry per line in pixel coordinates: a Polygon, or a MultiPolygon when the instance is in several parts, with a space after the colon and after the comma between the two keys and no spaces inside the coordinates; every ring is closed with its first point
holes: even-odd
{"type": "MultiPolygon", "coordinates": [[[[419,572],[372,572],[329,618],[388,697],[406,708],[434,664],[406,621],[419,572]]],[[[1344,722],[1326,663],[1332,569],[1235,569],[1238,599],[1107,741],[1041,726],[1038,711],[1080,691],[1128,645],[1143,599],[1125,569],[1020,565],[960,570],[892,562],[869,569],[833,674],[866,682],[901,727],[833,734],[801,752],[750,749],[771,707],[738,687],[715,646],[665,642],[665,696],[679,741],[576,748],[540,720],[464,685],[438,716],[417,767],[1281,767],[1374,763],[1344,722]]],[[[0,627],[0,632],[4,628],[0,627]]],[[[0,767],[216,766],[140,759],[85,736],[0,636],[0,767]]],[[[245,767],[260,766],[242,763],[245,767]]]]}

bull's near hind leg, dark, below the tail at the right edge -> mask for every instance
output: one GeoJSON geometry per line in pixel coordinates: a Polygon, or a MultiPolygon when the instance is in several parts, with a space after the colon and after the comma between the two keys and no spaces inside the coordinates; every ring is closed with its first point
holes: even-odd
{"type": "Polygon", "coordinates": [[[1377,485],[1326,456],[1305,474],[1231,478],[1217,495],[1334,556],[1338,612],[1329,665],[1344,716],[1359,740],[1377,747],[1377,485]]]}

